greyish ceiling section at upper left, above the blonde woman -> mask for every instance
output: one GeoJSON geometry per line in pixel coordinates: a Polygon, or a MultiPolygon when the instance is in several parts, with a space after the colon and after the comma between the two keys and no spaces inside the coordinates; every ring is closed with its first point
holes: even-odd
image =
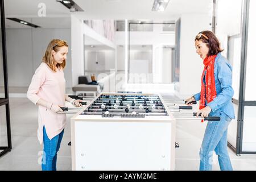
{"type": "MultiPolygon", "coordinates": [[[[55,0],[5,0],[6,18],[19,18],[43,28],[70,28],[69,10],[55,0]],[[46,6],[46,16],[39,17],[39,4],[46,6]]],[[[6,28],[31,28],[6,19],[6,28]]]]}

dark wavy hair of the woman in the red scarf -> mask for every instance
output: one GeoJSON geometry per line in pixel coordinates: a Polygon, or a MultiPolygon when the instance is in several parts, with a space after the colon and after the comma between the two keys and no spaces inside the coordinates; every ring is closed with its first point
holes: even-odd
{"type": "Polygon", "coordinates": [[[217,53],[224,51],[224,49],[220,48],[220,42],[218,41],[216,35],[213,34],[213,32],[209,30],[205,30],[205,31],[201,31],[200,33],[197,34],[195,41],[201,40],[201,42],[207,44],[207,47],[209,48],[209,52],[207,56],[217,55],[217,53]],[[203,35],[200,36],[200,33],[203,35]]]}

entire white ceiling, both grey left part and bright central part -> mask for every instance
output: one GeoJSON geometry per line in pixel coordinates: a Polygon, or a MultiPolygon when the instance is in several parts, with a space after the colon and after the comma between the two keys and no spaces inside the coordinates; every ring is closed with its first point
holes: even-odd
{"type": "MultiPolygon", "coordinates": [[[[164,12],[151,11],[154,0],[73,0],[84,12],[80,19],[176,20],[181,14],[210,14],[212,0],[170,0],[164,12]]],[[[28,20],[44,28],[70,27],[70,12],[55,0],[5,0],[6,18],[28,20]],[[46,17],[38,16],[39,3],[46,5],[46,17]],[[64,19],[62,19],[64,18],[64,19]]],[[[9,28],[27,28],[6,20],[9,28]]],[[[28,27],[30,28],[30,27],[28,27]]]]}

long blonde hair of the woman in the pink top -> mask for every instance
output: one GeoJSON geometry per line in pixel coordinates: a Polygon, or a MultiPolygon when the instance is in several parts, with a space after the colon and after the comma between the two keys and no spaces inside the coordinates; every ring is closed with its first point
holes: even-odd
{"type": "Polygon", "coordinates": [[[46,48],[46,53],[44,53],[43,56],[43,63],[46,63],[49,68],[52,69],[53,72],[56,72],[57,68],[65,68],[66,65],[66,60],[63,61],[63,63],[59,64],[57,63],[56,67],[54,64],[54,59],[52,56],[52,50],[55,52],[58,52],[60,50],[60,47],[68,47],[68,43],[65,40],[60,40],[60,39],[52,39],[51,42],[49,42],[47,48],[46,48]]]}

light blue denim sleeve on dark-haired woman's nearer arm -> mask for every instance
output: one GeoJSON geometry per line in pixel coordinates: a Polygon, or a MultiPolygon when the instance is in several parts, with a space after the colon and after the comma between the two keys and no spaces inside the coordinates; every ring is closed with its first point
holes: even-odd
{"type": "Polygon", "coordinates": [[[234,94],[231,68],[225,61],[220,61],[218,64],[218,80],[220,81],[221,92],[212,102],[207,104],[213,112],[224,106],[226,102],[232,99],[234,94]]]}

